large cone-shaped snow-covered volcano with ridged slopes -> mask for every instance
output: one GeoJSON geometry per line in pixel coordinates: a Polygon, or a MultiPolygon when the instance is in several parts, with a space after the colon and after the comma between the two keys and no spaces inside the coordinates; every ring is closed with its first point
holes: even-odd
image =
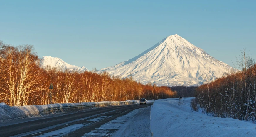
{"type": "Polygon", "coordinates": [[[100,71],[122,77],[132,75],[134,80],[144,84],[191,86],[212,81],[230,69],[231,66],[175,34],[128,61],[100,71]]]}

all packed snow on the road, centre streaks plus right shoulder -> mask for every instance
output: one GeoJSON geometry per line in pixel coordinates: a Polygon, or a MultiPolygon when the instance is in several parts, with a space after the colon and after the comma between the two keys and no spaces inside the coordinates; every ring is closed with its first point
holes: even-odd
{"type": "MultiPolygon", "coordinates": [[[[98,114],[100,115],[100,114],[98,114]]],[[[58,129],[55,131],[51,131],[48,133],[42,134],[43,130],[34,131],[32,135],[41,136],[63,136],[68,134],[72,134],[75,130],[81,129],[85,126],[90,126],[95,122],[102,121],[103,119],[107,119],[112,116],[100,116],[94,119],[88,119],[89,123],[82,124],[74,124],[62,129],[58,129]]],[[[89,117],[83,118],[87,119],[89,117]]],[[[81,120],[81,119],[78,119],[81,120]]],[[[71,122],[69,122],[71,123],[71,122]]],[[[62,125],[68,125],[67,123],[63,123],[62,125]]],[[[26,135],[26,134],[21,134],[26,135]]],[[[113,137],[149,137],[150,136],[150,107],[135,109],[128,114],[125,114],[121,117],[118,117],[110,122],[107,122],[101,125],[99,128],[95,130],[85,133],[84,136],[113,136],[113,137]]]]}

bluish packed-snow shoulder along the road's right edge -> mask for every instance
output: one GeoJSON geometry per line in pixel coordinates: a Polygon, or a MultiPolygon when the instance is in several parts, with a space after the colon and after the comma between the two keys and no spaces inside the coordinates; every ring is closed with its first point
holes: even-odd
{"type": "Polygon", "coordinates": [[[128,114],[111,120],[99,128],[84,134],[90,136],[113,137],[149,137],[150,136],[150,107],[135,109],[128,114]],[[145,111],[145,112],[144,112],[145,111]],[[142,114],[142,112],[144,112],[142,114]]]}

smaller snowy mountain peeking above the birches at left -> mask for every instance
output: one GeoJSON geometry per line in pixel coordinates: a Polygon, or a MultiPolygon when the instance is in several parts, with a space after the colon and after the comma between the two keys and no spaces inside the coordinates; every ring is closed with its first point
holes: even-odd
{"type": "Polygon", "coordinates": [[[60,58],[55,58],[55,57],[51,57],[51,56],[43,56],[43,58],[40,60],[40,62],[43,67],[51,66],[51,67],[57,67],[57,68],[63,68],[63,69],[77,70],[79,72],[89,71],[84,66],[78,67],[78,66],[70,65],[70,64],[64,62],[60,58]]]}

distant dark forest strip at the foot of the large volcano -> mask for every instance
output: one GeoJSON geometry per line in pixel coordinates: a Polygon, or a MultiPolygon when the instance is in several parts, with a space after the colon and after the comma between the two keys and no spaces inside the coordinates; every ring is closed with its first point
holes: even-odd
{"type": "Polygon", "coordinates": [[[195,97],[196,86],[172,86],[172,91],[177,91],[179,97],[195,97]]]}

